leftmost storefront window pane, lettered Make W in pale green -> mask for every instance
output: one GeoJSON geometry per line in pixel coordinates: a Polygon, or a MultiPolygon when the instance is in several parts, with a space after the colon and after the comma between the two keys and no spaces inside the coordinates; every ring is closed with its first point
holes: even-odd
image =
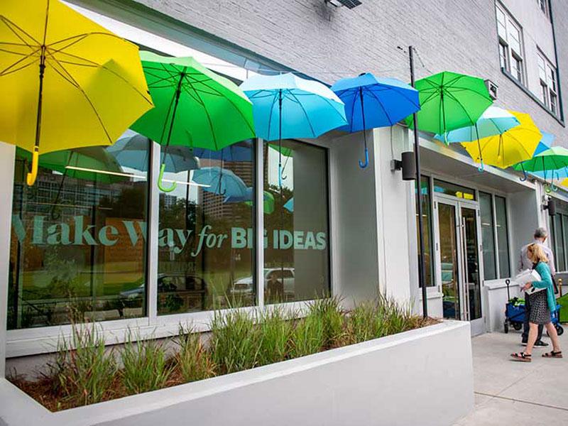
{"type": "Polygon", "coordinates": [[[9,329],[145,315],[148,143],[41,155],[32,187],[29,159],[17,151],[9,329]]]}

